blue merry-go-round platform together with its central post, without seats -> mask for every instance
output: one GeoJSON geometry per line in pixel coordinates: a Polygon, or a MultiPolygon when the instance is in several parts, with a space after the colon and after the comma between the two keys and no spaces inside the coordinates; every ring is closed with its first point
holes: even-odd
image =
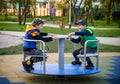
{"type": "MultiPolygon", "coordinates": [[[[39,75],[57,75],[57,76],[69,76],[69,75],[89,75],[95,74],[101,71],[100,68],[93,68],[85,70],[83,65],[64,64],[64,42],[66,36],[59,35],[58,41],[58,64],[46,64],[45,69],[41,64],[34,64],[34,70],[28,73],[39,75]]],[[[24,68],[22,71],[26,72],[24,68]]]]}

